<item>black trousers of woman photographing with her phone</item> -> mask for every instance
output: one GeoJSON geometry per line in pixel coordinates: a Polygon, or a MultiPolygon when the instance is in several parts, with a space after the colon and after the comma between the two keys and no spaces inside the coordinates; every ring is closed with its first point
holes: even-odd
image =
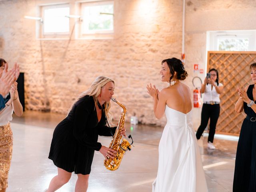
{"type": "Polygon", "coordinates": [[[220,104],[203,104],[202,107],[202,113],[201,113],[201,124],[196,132],[196,138],[200,139],[202,136],[207,124],[208,120],[210,118],[210,129],[209,129],[209,136],[208,136],[208,142],[213,143],[216,124],[218,121],[218,118],[220,116],[220,104]]]}

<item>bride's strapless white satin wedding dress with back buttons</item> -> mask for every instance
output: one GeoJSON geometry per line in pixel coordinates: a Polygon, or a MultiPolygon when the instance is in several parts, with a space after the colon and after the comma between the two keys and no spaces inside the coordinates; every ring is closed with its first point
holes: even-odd
{"type": "Polygon", "coordinates": [[[192,112],[184,114],[166,105],[165,114],[152,192],[208,192],[192,112]]]}

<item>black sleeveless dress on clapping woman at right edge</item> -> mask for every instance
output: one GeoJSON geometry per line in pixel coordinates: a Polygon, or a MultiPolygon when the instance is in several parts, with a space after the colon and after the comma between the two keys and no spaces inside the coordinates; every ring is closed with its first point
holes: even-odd
{"type": "MultiPolygon", "coordinates": [[[[247,95],[254,100],[250,85],[247,95]]],[[[244,102],[247,114],[242,123],[236,152],[233,192],[256,192],[256,113],[244,102]]]]}

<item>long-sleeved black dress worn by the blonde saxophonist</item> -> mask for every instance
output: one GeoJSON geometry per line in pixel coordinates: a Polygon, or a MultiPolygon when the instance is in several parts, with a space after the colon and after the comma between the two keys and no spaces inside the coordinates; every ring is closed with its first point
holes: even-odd
{"type": "Polygon", "coordinates": [[[98,122],[92,96],[84,96],[74,104],[68,116],[53,133],[49,159],[58,168],[75,174],[90,174],[94,150],[100,150],[98,135],[111,136],[116,127],[106,126],[106,117],[98,122]]]}

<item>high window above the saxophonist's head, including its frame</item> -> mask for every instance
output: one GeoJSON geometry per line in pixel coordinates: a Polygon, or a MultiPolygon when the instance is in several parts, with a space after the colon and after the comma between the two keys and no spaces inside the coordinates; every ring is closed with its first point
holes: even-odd
{"type": "Polygon", "coordinates": [[[107,37],[114,32],[114,1],[81,3],[80,37],[107,37]]]}

